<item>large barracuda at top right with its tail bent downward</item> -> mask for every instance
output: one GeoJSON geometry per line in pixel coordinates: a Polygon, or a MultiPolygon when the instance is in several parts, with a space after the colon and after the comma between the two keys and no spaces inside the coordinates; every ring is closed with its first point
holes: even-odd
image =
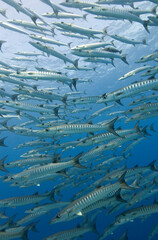
{"type": "Polygon", "coordinates": [[[129,12],[126,9],[116,9],[116,8],[102,8],[102,7],[91,7],[91,8],[84,8],[84,11],[95,14],[95,15],[101,15],[105,17],[116,17],[118,19],[126,19],[130,22],[139,22],[141,23],[145,30],[149,33],[149,30],[147,28],[147,21],[143,21],[141,18],[139,18],[137,15],[129,12]]]}

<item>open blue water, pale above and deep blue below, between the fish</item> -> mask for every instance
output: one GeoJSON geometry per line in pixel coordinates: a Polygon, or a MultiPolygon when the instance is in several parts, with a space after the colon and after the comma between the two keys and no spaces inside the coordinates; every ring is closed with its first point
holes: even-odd
{"type": "MultiPolygon", "coordinates": [[[[43,14],[46,12],[51,12],[51,8],[45,4],[43,4],[42,2],[40,2],[40,0],[23,0],[23,5],[27,6],[29,8],[31,8],[32,10],[36,11],[38,14],[43,14]]],[[[55,0],[53,1],[56,4],[59,4],[60,1],[55,0]]],[[[89,1],[89,2],[94,2],[94,1],[89,1]]],[[[15,11],[15,9],[13,9],[12,7],[10,7],[9,5],[3,3],[2,1],[0,1],[0,8],[7,8],[7,17],[8,19],[21,19],[21,20],[25,20],[25,21],[30,21],[30,19],[25,16],[22,13],[17,13],[15,11]]],[[[143,1],[140,3],[136,3],[135,4],[136,7],[140,7],[141,9],[151,9],[153,6],[155,6],[153,3],[151,3],[150,1],[143,1]]],[[[65,8],[67,9],[67,8],[65,8]]],[[[82,11],[80,10],[76,10],[76,9],[67,9],[70,12],[76,13],[76,14],[83,14],[82,11]]],[[[147,18],[147,15],[144,15],[143,18],[147,18]]],[[[5,19],[3,16],[0,15],[0,21],[6,21],[7,19],[5,19]]],[[[60,19],[47,19],[45,18],[45,21],[47,21],[48,23],[52,24],[53,22],[59,22],[60,19]]],[[[36,51],[36,49],[34,49],[29,43],[28,41],[30,41],[28,36],[22,35],[20,33],[16,33],[13,31],[10,31],[8,29],[4,29],[4,28],[0,28],[0,40],[5,40],[7,41],[3,46],[2,46],[2,53],[0,53],[0,60],[7,62],[8,64],[14,64],[14,65],[19,65],[22,67],[26,67],[28,71],[34,70],[35,71],[35,66],[39,66],[39,67],[45,67],[48,69],[52,69],[53,71],[61,71],[62,73],[68,73],[68,76],[71,78],[82,78],[82,79],[91,79],[92,83],[78,83],[77,84],[77,90],[78,91],[86,91],[86,96],[97,96],[97,95],[101,95],[104,94],[106,92],[110,92],[110,91],[114,91],[120,87],[123,86],[127,86],[130,83],[140,80],[141,74],[137,74],[136,76],[133,76],[131,78],[128,78],[124,81],[118,81],[118,78],[120,78],[121,76],[123,76],[125,73],[139,67],[139,66],[143,66],[143,64],[137,64],[135,63],[135,61],[137,59],[139,59],[142,56],[145,56],[147,54],[152,53],[153,51],[157,50],[158,48],[158,42],[157,42],[157,27],[149,27],[150,30],[150,34],[148,34],[143,26],[139,23],[129,23],[128,21],[106,21],[104,22],[103,20],[96,20],[94,19],[93,15],[88,15],[87,16],[87,21],[84,20],[64,20],[67,23],[75,23],[76,25],[80,25],[80,26],[84,26],[84,27],[92,27],[94,29],[97,30],[102,30],[104,27],[108,27],[108,33],[109,34],[118,34],[118,35],[122,35],[124,37],[128,37],[128,38],[134,38],[136,40],[142,40],[143,38],[146,38],[148,45],[136,45],[135,47],[132,45],[127,45],[118,41],[115,41],[115,46],[118,49],[121,49],[123,54],[127,54],[127,61],[129,63],[129,65],[123,63],[120,59],[116,59],[114,60],[115,63],[115,67],[113,67],[112,65],[105,65],[105,64],[98,64],[97,68],[96,68],[96,72],[95,71],[89,71],[89,72],[82,72],[82,71],[68,71],[66,69],[64,69],[64,63],[61,60],[56,59],[55,57],[39,57],[38,59],[38,63],[27,63],[27,62],[15,62],[10,60],[13,56],[15,52],[18,51],[35,51],[38,52],[38,50],[36,51]]],[[[63,35],[61,35],[61,33],[59,31],[57,31],[55,29],[55,33],[56,35],[54,36],[55,40],[59,40],[62,42],[72,42],[72,46],[76,46],[79,44],[86,44],[89,42],[96,42],[97,39],[88,39],[88,40],[80,40],[80,39],[75,39],[75,38],[68,38],[68,37],[64,37],[63,35]]],[[[40,35],[40,34],[37,34],[40,35]]],[[[105,41],[111,40],[108,37],[105,37],[105,41]]],[[[66,53],[68,57],[72,58],[72,59],[76,59],[76,56],[73,56],[70,53],[70,49],[68,49],[67,47],[58,47],[54,45],[54,48],[60,52],[66,53]]],[[[86,64],[84,64],[84,62],[82,61],[82,59],[79,60],[79,64],[81,66],[84,66],[86,64]]],[[[70,64],[67,64],[70,65],[70,64]]],[[[157,65],[156,62],[151,61],[149,62],[149,64],[147,63],[147,65],[157,65]]],[[[95,64],[89,64],[89,67],[94,67],[95,64]]],[[[28,81],[29,83],[32,83],[31,80],[28,81]]],[[[34,81],[33,81],[34,83],[34,81]]],[[[65,94],[67,92],[71,92],[71,90],[69,89],[69,87],[67,87],[66,85],[60,84],[60,83],[56,83],[56,82],[50,82],[50,81],[38,81],[37,84],[40,86],[40,88],[46,88],[46,87],[59,87],[59,93],[60,94],[65,94]]],[[[12,88],[14,87],[14,85],[9,84],[9,83],[5,83],[5,82],[0,82],[0,87],[6,89],[6,91],[8,92],[12,92],[12,88]]],[[[151,92],[150,92],[151,93],[151,92]]],[[[145,96],[145,95],[149,95],[149,93],[143,93],[141,94],[141,96],[145,96]]],[[[133,98],[129,98],[129,99],[123,99],[122,103],[124,106],[120,106],[117,104],[117,107],[112,110],[112,111],[118,111],[118,110],[127,110],[128,109],[128,104],[133,100],[138,98],[138,96],[133,97],[133,98]]],[[[1,98],[1,100],[4,100],[4,98],[1,98]]],[[[29,101],[31,103],[31,101],[29,101]]],[[[32,103],[38,103],[38,101],[32,101],[32,103]]],[[[42,102],[40,102],[42,103],[42,102]]],[[[44,103],[44,101],[43,101],[44,103]]],[[[51,104],[51,103],[50,103],[51,104]]],[[[79,117],[80,119],[82,119],[84,116],[86,116],[87,118],[96,110],[101,109],[102,107],[104,107],[104,104],[90,104],[90,105],[76,105],[76,108],[81,108],[81,107],[85,107],[85,108],[89,108],[89,110],[86,113],[79,113],[76,114],[76,117],[79,117]]],[[[31,113],[30,113],[31,114],[31,113]]],[[[39,114],[33,114],[34,116],[40,116],[39,114]]],[[[70,115],[69,115],[70,116],[70,115]]],[[[92,119],[93,123],[97,123],[106,119],[110,119],[110,117],[106,116],[106,113],[103,113],[100,117],[97,117],[95,119],[92,119]]],[[[72,120],[72,119],[71,119],[72,120]]],[[[144,140],[139,144],[136,145],[132,150],[131,150],[131,156],[128,157],[128,159],[126,160],[126,165],[127,168],[132,168],[135,165],[139,165],[139,166],[146,166],[147,164],[149,164],[151,161],[153,160],[157,160],[157,146],[158,146],[158,137],[157,137],[157,131],[158,131],[158,118],[151,118],[151,119],[147,119],[147,120],[143,120],[140,121],[140,125],[141,126],[146,126],[146,125],[151,125],[152,123],[154,124],[154,129],[155,132],[150,132],[151,136],[147,136],[146,138],[144,138],[144,140]]],[[[27,119],[26,118],[21,118],[21,120],[9,120],[8,121],[8,125],[9,126],[14,126],[14,125],[19,125],[20,123],[26,122],[27,119]]],[[[124,124],[123,121],[121,122],[116,122],[115,128],[122,126],[122,128],[130,128],[133,127],[135,125],[135,122],[129,123],[129,124],[124,124]]],[[[35,129],[35,125],[32,124],[30,125],[30,127],[32,129],[35,129]]],[[[6,162],[10,162],[10,161],[15,161],[20,159],[20,156],[22,154],[24,154],[25,152],[29,151],[31,148],[23,148],[23,149],[19,149],[19,150],[15,150],[14,148],[23,142],[27,142],[27,141],[31,141],[35,138],[33,137],[26,137],[26,136],[20,136],[20,135],[16,135],[10,131],[5,131],[2,132],[0,134],[0,138],[2,137],[6,137],[7,139],[5,140],[5,143],[7,145],[7,147],[0,147],[0,151],[1,151],[1,158],[8,155],[6,162]]],[[[63,141],[73,141],[76,140],[78,138],[81,137],[85,137],[86,134],[81,134],[81,135],[72,135],[70,137],[67,137],[65,140],[63,141]]],[[[62,140],[61,140],[62,142],[62,140]]],[[[68,151],[65,152],[61,152],[61,150],[57,150],[57,153],[62,154],[62,157],[68,157],[68,156],[75,156],[77,155],[79,152],[84,151],[84,153],[88,150],[91,149],[90,147],[85,147],[85,148],[75,148],[75,149],[70,149],[68,151]]],[[[106,154],[121,154],[121,150],[123,148],[117,148],[116,151],[108,151],[106,154]]],[[[53,151],[51,151],[53,152],[53,151]]],[[[123,164],[121,164],[120,166],[122,166],[123,164]]],[[[20,169],[19,168],[15,168],[15,169],[8,169],[9,172],[11,173],[16,173],[19,172],[20,169]]],[[[5,176],[6,173],[1,172],[0,173],[1,176],[5,176]]],[[[78,175],[76,175],[76,178],[78,177],[78,175]]],[[[92,180],[89,180],[92,181],[92,180]]],[[[60,181],[61,182],[61,181],[60,181]]],[[[9,198],[9,197],[14,197],[14,196],[23,196],[23,195],[27,195],[27,194],[34,194],[35,192],[39,191],[39,193],[44,193],[46,191],[50,191],[53,189],[53,187],[55,187],[57,184],[59,183],[58,180],[56,181],[47,181],[44,183],[41,183],[40,187],[38,186],[32,186],[32,187],[28,187],[28,188],[19,188],[19,187],[11,187],[10,184],[8,183],[4,183],[3,181],[0,181],[0,199],[3,198],[9,198]]],[[[84,186],[83,186],[84,187],[84,186]]],[[[70,198],[77,192],[81,191],[81,187],[79,188],[70,188],[70,189],[66,189],[65,191],[62,192],[62,201],[69,201],[70,198]]],[[[59,197],[56,196],[56,200],[58,200],[59,197]]],[[[148,205],[148,204],[152,204],[153,201],[155,199],[155,196],[152,196],[149,199],[146,199],[136,205],[134,205],[134,207],[136,206],[142,206],[142,205],[148,205]]],[[[46,203],[49,200],[45,200],[42,201],[41,203],[46,203]]],[[[50,202],[50,201],[49,201],[50,202]]],[[[41,204],[40,203],[40,204],[41,204]]],[[[31,207],[34,207],[35,205],[29,205],[29,206],[24,206],[24,207],[17,207],[17,208],[7,208],[6,209],[6,215],[11,217],[14,214],[16,214],[15,216],[15,221],[22,218],[23,216],[25,216],[24,211],[26,209],[29,209],[31,207]]],[[[106,214],[106,210],[105,209],[101,209],[101,211],[98,213],[97,218],[96,218],[96,228],[97,231],[101,234],[106,227],[112,223],[115,219],[115,217],[123,212],[124,210],[127,210],[125,208],[121,208],[119,211],[116,211],[110,215],[106,214]]],[[[68,221],[68,222],[61,222],[61,223],[57,223],[57,224],[48,224],[49,221],[55,216],[55,214],[57,214],[59,210],[55,209],[50,211],[49,214],[43,215],[40,218],[37,219],[37,221],[39,220],[39,222],[37,223],[37,230],[38,232],[32,232],[29,231],[28,233],[28,239],[31,240],[36,240],[36,239],[43,239],[55,232],[58,231],[62,231],[62,230],[67,230],[67,229],[71,229],[73,227],[76,227],[77,224],[81,223],[84,219],[83,217],[78,217],[72,221],[68,221]]],[[[95,211],[94,211],[95,212],[95,211]]],[[[6,220],[0,219],[0,224],[4,223],[6,220]]],[[[35,222],[36,220],[34,220],[35,222]]],[[[141,239],[141,240],[147,240],[148,239],[148,235],[152,229],[152,227],[154,226],[154,224],[158,222],[158,214],[153,214],[151,216],[149,216],[147,219],[145,219],[144,221],[141,221],[140,219],[136,219],[134,220],[134,222],[128,222],[124,225],[121,225],[120,227],[118,227],[116,229],[116,231],[112,234],[109,235],[106,239],[119,239],[119,237],[126,231],[128,230],[128,238],[129,240],[136,240],[136,239],[141,239]]],[[[98,236],[92,232],[86,233],[82,239],[91,239],[91,240],[95,240],[97,239],[98,236]]],[[[78,237],[77,239],[80,239],[80,237],[78,237]]],[[[158,239],[158,235],[155,235],[153,240],[157,240],[158,239]]]]}

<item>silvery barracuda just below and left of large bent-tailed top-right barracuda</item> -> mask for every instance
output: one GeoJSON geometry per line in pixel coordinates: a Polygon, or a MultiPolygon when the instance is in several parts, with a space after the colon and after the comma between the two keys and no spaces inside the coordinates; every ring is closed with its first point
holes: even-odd
{"type": "Polygon", "coordinates": [[[95,29],[89,29],[89,28],[84,28],[80,27],[74,24],[68,24],[68,23],[54,23],[55,26],[61,28],[61,30],[66,30],[74,33],[80,33],[82,35],[86,35],[89,38],[93,37],[95,34],[106,34],[106,28],[104,28],[102,31],[95,30],[95,29]]]}

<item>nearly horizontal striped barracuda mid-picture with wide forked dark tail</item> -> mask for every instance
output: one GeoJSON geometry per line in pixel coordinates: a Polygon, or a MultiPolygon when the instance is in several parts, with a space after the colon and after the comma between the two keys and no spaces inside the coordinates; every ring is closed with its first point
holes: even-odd
{"type": "Polygon", "coordinates": [[[85,132],[96,132],[102,130],[108,130],[109,132],[118,136],[118,134],[114,130],[114,123],[117,121],[117,117],[113,120],[109,121],[109,123],[105,125],[100,124],[63,124],[51,128],[46,128],[44,130],[39,131],[39,134],[45,136],[53,136],[53,135],[64,135],[64,134],[77,134],[77,133],[85,133],[85,132]]]}

